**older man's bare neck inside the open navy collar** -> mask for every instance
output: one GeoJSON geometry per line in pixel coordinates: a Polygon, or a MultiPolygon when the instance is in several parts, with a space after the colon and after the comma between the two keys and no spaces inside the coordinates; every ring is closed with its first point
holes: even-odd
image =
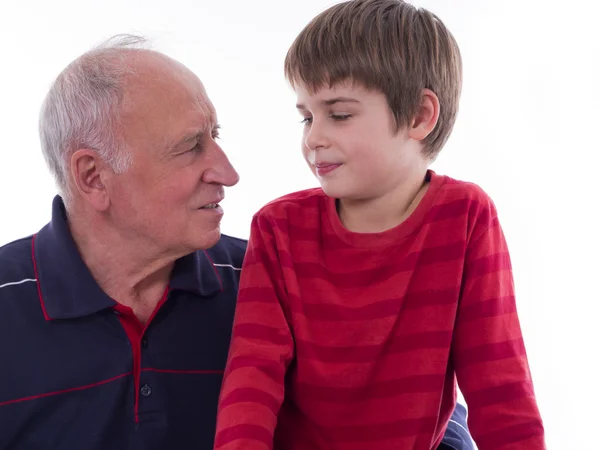
{"type": "Polygon", "coordinates": [[[169,284],[175,260],[183,255],[160,253],[145,242],[125,239],[101,220],[68,218],[83,262],[102,290],[148,321],[169,284]],[[100,223],[100,225],[99,225],[100,223]]]}

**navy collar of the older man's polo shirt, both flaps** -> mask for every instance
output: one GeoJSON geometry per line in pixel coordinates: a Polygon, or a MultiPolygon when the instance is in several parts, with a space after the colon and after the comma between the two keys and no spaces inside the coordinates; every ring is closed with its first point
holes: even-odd
{"type": "MultiPolygon", "coordinates": [[[[52,202],[52,220],[34,236],[32,253],[47,320],[84,317],[117,304],[83,262],[58,195],[52,202]]],[[[210,297],[222,285],[208,253],[198,251],[175,262],[169,289],[210,297]]]]}

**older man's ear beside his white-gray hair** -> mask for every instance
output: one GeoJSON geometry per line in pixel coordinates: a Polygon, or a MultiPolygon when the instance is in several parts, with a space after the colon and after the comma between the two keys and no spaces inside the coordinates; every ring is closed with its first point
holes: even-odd
{"type": "Polygon", "coordinates": [[[110,198],[104,179],[110,170],[95,150],[80,149],[71,155],[71,175],[75,190],[97,211],[104,211],[110,198]]]}

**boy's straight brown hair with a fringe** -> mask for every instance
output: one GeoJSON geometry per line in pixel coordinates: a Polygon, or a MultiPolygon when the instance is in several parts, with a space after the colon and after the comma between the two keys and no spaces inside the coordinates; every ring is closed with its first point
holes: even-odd
{"type": "Polygon", "coordinates": [[[448,140],[462,87],[458,45],[431,12],[402,0],[350,0],[325,10],[298,35],[285,58],[285,76],[317,91],[352,80],[384,93],[397,129],[408,125],[423,89],[435,92],[440,116],[424,140],[435,159],[448,140]]]}

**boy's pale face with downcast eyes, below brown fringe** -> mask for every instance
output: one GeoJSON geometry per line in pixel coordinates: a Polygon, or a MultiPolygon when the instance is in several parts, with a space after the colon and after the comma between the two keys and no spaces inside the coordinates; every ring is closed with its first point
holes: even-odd
{"type": "Polygon", "coordinates": [[[373,200],[427,169],[420,142],[407,127],[396,131],[383,93],[350,82],[296,93],[302,152],[328,196],[373,200]]]}

